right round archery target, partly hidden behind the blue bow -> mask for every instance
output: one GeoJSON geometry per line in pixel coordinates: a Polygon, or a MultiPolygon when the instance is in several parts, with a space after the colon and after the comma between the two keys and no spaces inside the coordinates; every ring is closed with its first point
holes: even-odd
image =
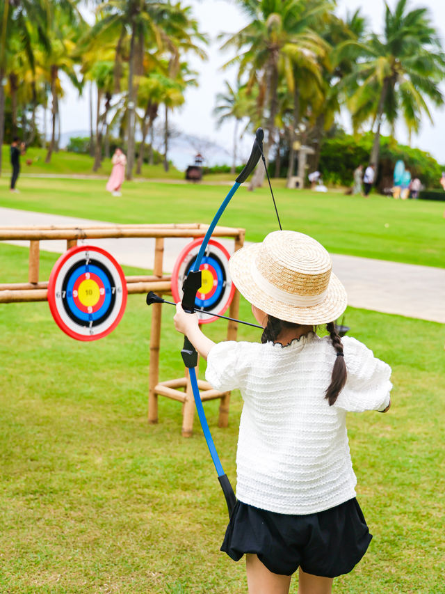
{"type": "MultiPolygon", "coordinates": [[[[186,247],[179,254],[172,272],[172,295],[175,302],[182,299],[182,285],[188,272],[193,268],[197,254],[200,251],[202,239],[199,238],[186,247]]],[[[223,315],[235,293],[235,286],[229,276],[230,254],[223,245],[215,240],[209,240],[202,258],[202,285],[196,293],[195,306],[211,313],[223,315]]],[[[197,311],[200,324],[208,324],[218,320],[215,316],[197,311]]]]}

